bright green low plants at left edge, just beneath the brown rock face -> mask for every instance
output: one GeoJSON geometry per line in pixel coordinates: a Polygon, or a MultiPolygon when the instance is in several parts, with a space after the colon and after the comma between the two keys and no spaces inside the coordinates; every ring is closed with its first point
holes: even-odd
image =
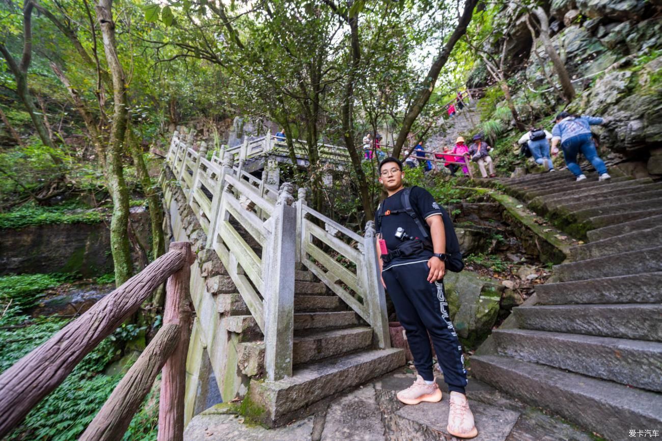
{"type": "Polygon", "coordinates": [[[44,296],[46,290],[70,282],[73,274],[21,274],[0,277],[0,305],[27,309],[44,296]]]}

